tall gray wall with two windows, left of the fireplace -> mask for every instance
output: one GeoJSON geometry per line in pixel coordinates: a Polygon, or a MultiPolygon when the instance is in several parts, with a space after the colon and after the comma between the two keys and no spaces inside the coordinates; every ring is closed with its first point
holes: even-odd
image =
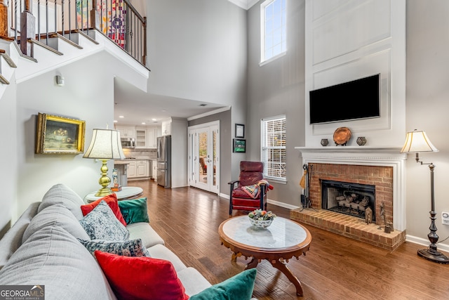
{"type": "Polygon", "coordinates": [[[304,1],[288,1],[286,56],[260,63],[260,3],[248,11],[248,159],[260,159],[260,119],[286,115],[287,184],[273,183],[269,199],[299,206],[304,146],[304,1]]]}

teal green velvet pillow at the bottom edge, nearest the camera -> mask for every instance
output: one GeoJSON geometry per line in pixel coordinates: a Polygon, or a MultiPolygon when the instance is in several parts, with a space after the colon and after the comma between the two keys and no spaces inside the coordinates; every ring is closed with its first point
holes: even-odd
{"type": "Polygon", "coordinates": [[[256,273],[255,268],[244,270],[232,278],[191,296],[189,300],[249,300],[253,296],[256,273]]]}

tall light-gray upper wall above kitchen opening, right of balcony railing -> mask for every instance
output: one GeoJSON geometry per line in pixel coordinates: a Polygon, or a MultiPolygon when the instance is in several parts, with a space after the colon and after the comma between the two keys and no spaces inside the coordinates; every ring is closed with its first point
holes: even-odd
{"type": "MultiPolygon", "coordinates": [[[[244,123],[246,11],[227,0],[149,0],[147,20],[149,93],[231,106],[230,122],[244,123]]],[[[238,174],[241,155],[226,155],[238,174]]]]}

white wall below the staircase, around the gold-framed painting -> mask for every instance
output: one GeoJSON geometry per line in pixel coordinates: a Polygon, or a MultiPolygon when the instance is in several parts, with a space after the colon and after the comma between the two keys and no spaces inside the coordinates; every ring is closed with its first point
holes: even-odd
{"type": "MultiPolygon", "coordinates": [[[[82,154],[34,154],[36,115],[43,112],[86,121],[86,150],[92,129],[106,128],[107,124],[113,129],[116,74],[130,79],[135,72],[102,51],[18,84],[15,177],[18,187],[17,214],[13,214],[13,220],[31,202],[40,201],[56,183],[68,185],[81,197],[100,188],[100,162],[84,159],[82,154]],[[56,74],[65,78],[65,86],[56,86],[56,74]]],[[[112,170],[112,162],[108,166],[112,170]]]]}

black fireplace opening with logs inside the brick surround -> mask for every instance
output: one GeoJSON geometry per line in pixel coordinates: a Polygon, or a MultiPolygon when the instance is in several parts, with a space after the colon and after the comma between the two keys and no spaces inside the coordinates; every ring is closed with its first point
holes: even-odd
{"type": "Polygon", "coordinates": [[[365,219],[368,207],[375,223],[375,185],[321,181],[322,208],[365,219]]]}

